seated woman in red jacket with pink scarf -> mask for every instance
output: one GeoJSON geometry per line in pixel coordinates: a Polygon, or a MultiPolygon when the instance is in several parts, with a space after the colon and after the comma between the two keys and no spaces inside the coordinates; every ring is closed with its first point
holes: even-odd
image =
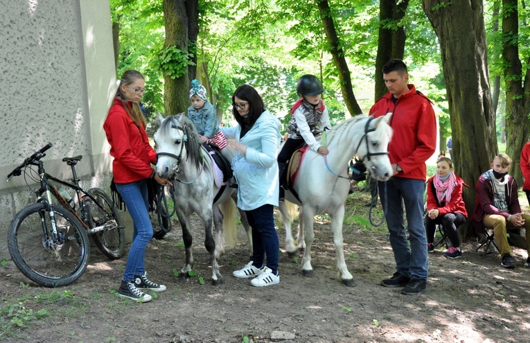
{"type": "Polygon", "coordinates": [[[436,162],[436,175],[427,180],[427,210],[429,211],[425,216],[427,252],[434,250],[436,225],[441,224],[452,245],[445,252],[445,257],[459,258],[462,256],[457,228],[466,222],[468,217],[466,204],[462,199],[463,186],[468,187],[458,175],[453,173],[451,159],[441,157],[436,162]]]}

